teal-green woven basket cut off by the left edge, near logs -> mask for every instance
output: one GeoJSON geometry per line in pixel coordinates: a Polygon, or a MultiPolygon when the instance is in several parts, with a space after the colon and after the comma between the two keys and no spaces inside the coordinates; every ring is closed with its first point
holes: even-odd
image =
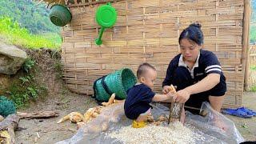
{"type": "Polygon", "coordinates": [[[5,96],[0,96],[0,115],[7,117],[9,114],[15,114],[16,108],[14,102],[10,101],[5,96]]]}

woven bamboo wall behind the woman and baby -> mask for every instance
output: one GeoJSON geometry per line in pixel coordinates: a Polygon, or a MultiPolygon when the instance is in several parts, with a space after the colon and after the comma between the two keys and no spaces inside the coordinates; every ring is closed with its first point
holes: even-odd
{"type": "Polygon", "coordinates": [[[167,66],[179,53],[178,36],[191,22],[200,22],[204,49],[218,55],[226,75],[225,106],[242,105],[243,0],[123,0],[112,3],[118,20],[102,36],[94,20],[97,7],[70,6],[72,21],[62,29],[62,63],[66,85],[80,94],[93,94],[93,82],[122,67],[134,71],[142,62],[158,70],[155,90],[162,90],[167,66]]]}

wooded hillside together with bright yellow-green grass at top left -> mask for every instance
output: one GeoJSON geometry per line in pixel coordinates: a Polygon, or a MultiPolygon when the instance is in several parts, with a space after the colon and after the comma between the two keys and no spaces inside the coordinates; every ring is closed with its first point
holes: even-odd
{"type": "Polygon", "coordinates": [[[0,1],[0,35],[7,42],[26,48],[59,49],[60,27],[50,22],[46,3],[32,0],[0,1]]]}

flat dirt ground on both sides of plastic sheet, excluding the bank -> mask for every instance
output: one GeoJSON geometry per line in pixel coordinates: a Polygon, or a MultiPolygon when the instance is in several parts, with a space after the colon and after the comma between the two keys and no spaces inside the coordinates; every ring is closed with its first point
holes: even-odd
{"type": "MultiPolygon", "coordinates": [[[[243,105],[256,110],[256,93],[245,93],[243,105]]],[[[26,112],[38,110],[57,110],[60,114],[57,118],[48,119],[22,119],[19,126],[24,130],[16,131],[17,143],[54,143],[66,138],[71,138],[77,131],[74,123],[62,122],[57,124],[59,118],[62,118],[71,111],[84,113],[88,108],[97,106],[93,98],[85,95],[72,94],[68,90],[62,91],[51,98],[47,98],[43,102],[38,102],[30,106],[26,112]],[[38,135],[40,138],[38,138],[38,135]]],[[[256,117],[254,118],[238,118],[226,115],[230,118],[242,136],[247,141],[256,141],[256,117]]]]}

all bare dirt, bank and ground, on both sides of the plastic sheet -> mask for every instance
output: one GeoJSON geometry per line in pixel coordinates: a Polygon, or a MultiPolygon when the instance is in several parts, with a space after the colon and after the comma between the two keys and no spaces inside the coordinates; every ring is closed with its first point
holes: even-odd
{"type": "MultiPolygon", "coordinates": [[[[61,79],[56,78],[54,70],[53,52],[42,50],[39,53],[27,51],[37,60],[41,70],[38,79],[46,83],[48,87],[48,96],[38,102],[31,103],[30,107],[18,110],[22,112],[37,112],[41,110],[54,110],[59,113],[56,118],[48,119],[21,119],[19,130],[15,132],[16,143],[54,143],[71,138],[77,131],[74,123],[62,122],[57,124],[58,120],[72,111],[78,111],[84,114],[90,107],[97,106],[93,98],[86,95],[70,93],[66,89],[61,79]]],[[[245,93],[243,97],[243,106],[256,110],[256,93],[245,93]]],[[[256,117],[238,118],[226,115],[230,118],[246,141],[256,141],[256,117]]]]}

